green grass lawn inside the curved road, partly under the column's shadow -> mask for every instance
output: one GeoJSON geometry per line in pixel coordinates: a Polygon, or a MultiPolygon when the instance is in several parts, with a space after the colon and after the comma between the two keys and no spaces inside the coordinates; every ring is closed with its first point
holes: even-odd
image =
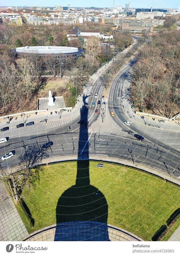
{"type": "MultiPolygon", "coordinates": [[[[166,224],[170,215],[180,207],[179,187],[133,168],[108,163],[104,163],[104,168],[96,168],[97,163],[94,161],[89,163],[91,186],[83,187],[81,184],[81,188],[78,189],[74,186],[77,162],[64,162],[44,167],[44,173],[36,189],[29,193],[24,189],[22,193],[22,198],[35,220],[33,228],[30,227],[22,210],[17,207],[30,233],[56,223],[56,206],[62,194],[58,204],[66,206],[66,214],[72,208],[74,212],[74,207],[68,208],[69,204],[73,204],[72,200],[68,203],[68,193],[71,193],[71,196],[74,193],[74,198],[81,192],[88,194],[88,198],[84,198],[83,195],[78,198],[77,204],[84,203],[83,208],[78,210],[84,212],[90,212],[86,199],[87,202],[96,201],[95,207],[97,207],[97,201],[104,205],[102,200],[104,194],[108,205],[107,223],[126,229],[147,241],[152,241],[155,232],[166,224]],[[70,187],[71,189],[68,189],[70,187]],[[97,188],[99,191],[96,197],[94,192],[97,188]]],[[[81,161],[79,168],[83,167],[85,165],[81,161]]],[[[86,175],[86,172],[83,175],[86,175]]],[[[102,205],[99,207],[98,216],[106,209],[102,205]]],[[[94,214],[97,216],[97,212],[94,214]]],[[[87,214],[83,215],[83,218],[86,219],[87,214]]]]}

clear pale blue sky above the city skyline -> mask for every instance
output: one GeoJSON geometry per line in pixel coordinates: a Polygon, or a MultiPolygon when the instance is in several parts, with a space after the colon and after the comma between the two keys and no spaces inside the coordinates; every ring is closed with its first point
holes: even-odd
{"type": "MultiPolygon", "coordinates": [[[[115,0],[114,6],[122,5],[125,8],[125,4],[130,0],[121,1],[115,0]]],[[[0,6],[67,6],[71,7],[113,7],[113,0],[1,0],[0,6]]],[[[130,3],[130,8],[178,8],[180,1],[177,0],[136,0],[130,3]]]]}

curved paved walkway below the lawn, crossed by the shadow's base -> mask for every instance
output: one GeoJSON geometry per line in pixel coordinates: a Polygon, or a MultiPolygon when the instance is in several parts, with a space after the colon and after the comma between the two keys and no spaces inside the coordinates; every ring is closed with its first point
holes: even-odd
{"type": "Polygon", "coordinates": [[[27,235],[22,241],[143,241],[118,227],[98,221],[51,225],[27,235]]]}

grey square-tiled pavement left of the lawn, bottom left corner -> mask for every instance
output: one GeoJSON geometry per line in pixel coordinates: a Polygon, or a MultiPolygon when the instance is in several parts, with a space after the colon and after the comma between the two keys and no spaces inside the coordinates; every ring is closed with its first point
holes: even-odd
{"type": "Polygon", "coordinates": [[[0,182],[0,241],[19,241],[28,231],[4,184],[0,182]]]}

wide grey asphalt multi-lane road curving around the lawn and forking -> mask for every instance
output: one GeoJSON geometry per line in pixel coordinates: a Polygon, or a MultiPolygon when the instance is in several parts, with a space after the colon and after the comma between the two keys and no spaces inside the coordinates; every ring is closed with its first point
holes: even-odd
{"type": "MultiPolygon", "coordinates": [[[[1,161],[0,159],[0,166],[9,168],[23,160],[40,163],[42,159],[48,157],[77,155],[79,140],[86,144],[87,136],[83,137],[83,132],[84,134],[88,132],[88,152],[83,152],[82,155],[100,155],[102,160],[103,156],[111,156],[132,162],[137,161],[162,172],[170,173],[172,176],[180,177],[180,145],[175,145],[177,141],[173,140],[177,132],[147,128],[143,122],[138,123],[134,119],[129,119],[131,126],[124,124],[124,121],[128,119],[125,106],[127,97],[125,95],[125,80],[128,80],[128,71],[134,62],[135,60],[131,60],[124,65],[121,72],[115,77],[106,105],[106,119],[112,120],[119,130],[110,131],[109,124],[102,125],[101,123],[101,106],[97,106],[97,101],[102,101],[104,86],[99,78],[93,88],[89,89],[89,95],[87,97],[84,95],[83,101],[80,103],[81,113],[77,111],[67,119],[53,120],[52,117],[48,117],[48,122],[44,125],[39,125],[40,120],[37,119],[34,126],[19,129],[16,128],[16,122],[13,121],[10,130],[1,133],[1,138],[8,137],[8,141],[0,144],[0,156],[12,150],[15,150],[16,153],[8,160],[1,161]],[[95,98],[96,93],[98,98],[95,98]],[[93,101],[96,102],[95,106],[92,106],[93,101]],[[98,109],[98,114],[95,114],[95,109],[98,109]],[[110,111],[115,113],[115,117],[110,116],[110,111]],[[90,129],[88,131],[86,128],[82,128],[79,135],[77,122],[87,115],[91,132],[90,129]],[[101,123],[101,129],[98,132],[93,130],[95,121],[96,124],[97,122],[101,123]],[[71,130],[67,131],[69,125],[71,130]],[[104,129],[102,129],[103,126],[104,129]],[[141,134],[145,140],[138,141],[134,138],[134,133],[141,134]],[[41,146],[48,141],[53,141],[53,146],[42,154],[41,146]]],[[[33,121],[31,117],[28,122],[30,121],[33,121]]]]}

